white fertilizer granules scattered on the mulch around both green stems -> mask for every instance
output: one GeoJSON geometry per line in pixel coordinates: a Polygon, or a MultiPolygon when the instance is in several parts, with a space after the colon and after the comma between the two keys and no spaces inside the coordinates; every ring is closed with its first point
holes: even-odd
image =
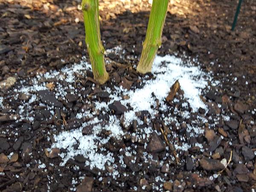
{"type": "MultiPolygon", "coordinates": [[[[113,52],[120,52],[120,48],[117,47],[113,49],[113,52]]],[[[108,53],[111,50],[107,50],[108,53]]],[[[122,54],[121,54],[122,55],[122,54]]],[[[76,74],[86,75],[85,70],[91,70],[90,64],[84,61],[85,58],[82,58],[82,61],[79,64],[74,64],[71,67],[64,67],[60,71],[50,71],[45,73],[44,75],[38,75],[35,78],[31,79],[32,85],[23,85],[25,81],[20,81],[21,86],[14,89],[14,92],[18,95],[19,93],[26,93],[32,95],[28,102],[24,102],[23,105],[19,106],[21,118],[19,121],[23,119],[29,120],[30,122],[34,121],[33,117],[29,117],[29,114],[24,114],[24,106],[30,108],[30,104],[32,102],[39,102],[39,106],[45,106],[47,110],[51,111],[51,119],[54,116],[54,108],[52,106],[45,105],[41,103],[36,94],[39,90],[47,90],[46,82],[42,82],[41,79],[49,79],[56,78],[57,81],[66,81],[68,83],[67,87],[64,87],[63,84],[56,82],[53,93],[55,93],[55,97],[61,97],[63,100],[65,99],[65,95],[67,94],[67,89],[73,90],[76,92],[76,88],[74,83],[77,80],[76,74]]],[[[207,87],[208,81],[212,81],[209,74],[204,73],[200,67],[195,67],[192,64],[184,63],[180,58],[175,56],[166,55],[164,57],[156,56],[152,68],[152,73],[154,75],[154,79],[145,80],[141,79],[143,87],[134,89],[132,87],[131,90],[124,90],[122,87],[115,87],[115,90],[111,90],[110,87],[105,87],[105,91],[110,93],[110,101],[108,103],[99,102],[99,101],[89,101],[86,96],[81,96],[83,101],[87,104],[93,104],[96,107],[96,110],[101,110],[105,108],[105,110],[109,113],[110,109],[108,105],[113,103],[113,101],[120,101],[122,105],[130,106],[128,111],[124,113],[121,119],[117,118],[115,115],[109,115],[109,121],[107,124],[101,126],[100,124],[95,125],[95,123],[102,122],[97,117],[93,120],[84,122],[80,128],[72,129],[70,131],[62,131],[58,135],[54,136],[55,143],[52,143],[51,148],[64,148],[67,152],[62,152],[62,163],[61,166],[64,166],[67,163],[67,160],[73,159],[75,156],[81,154],[83,155],[87,161],[85,165],[90,166],[91,169],[94,167],[98,169],[105,169],[105,164],[108,165],[113,164],[114,162],[118,162],[119,160],[115,160],[113,154],[103,147],[104,144],[108,143],[112,138],[118,140],[125,134],[122,130],[121,120],[124,121],[124,125],[128,126],[132,120],[136,119],[138,125],[142,125],[143,121],[139,119],[135,113],[138,111],[148,111],[151,116],[151,119],[154,119],[154,115],[158,114],[156,99],[159,100],[160,110],[169,111],[171,107],[166,104],[166,96],[169,94],[170,88],[175,83],[176,80],[180,83],[180,88],[184,91],[184,98],[187,99],[187,103],[183,103],[184,108],[188,108],[188,105],[192,108],[192,112],[198,111],[199,108],[205,109],[208,111],[207,105],[205,105],[201,99],[201,91],[207,87]],[[152,96],[154,93],[154,96],[152,96]],[[122,96],[128,96],[129,99],[123,99],[122,96]],[[89,135],[83,135],[82,130],[85,126],[94,125],[93,133],[89,135]],[[102,130],[110,132],[108,137],[102,138],[102,130]],[[78,147],[74,148],[74,145],[78,145],[78,147]]],[[[215,83],[215,82],[212,82],[215,83]]],[[[16,97],[17,97],[16,95],[16,97]]],[[[2,105],[3,97],[0,97],[0,108],[2,105]]],[[[174,99],[173,102],[179,102],[178,99],[174,99]]],[[[64,107],[65,108],[65,107],[64,107]]],[[[63,108],[63,109],[64,109],[63,108]]],[[[184,119],[190,118],[189,111],[178,111],[176,108],[173,114],[169,114],[168,116],[162,116],[163,121],[166,125],[169,125],[170,122],[175,122],[176,126],[180,126],[183,122],[178,122],[176,119],[176,115],[183,116],[184,119]]],[[[91,119],[95,116],[95,112],[91,112],[91,110],[84,111],[83,113],[77,113],[76,118],[87,118],[91,119]]],[[[150,118],[148,120],[148,126],[143,129],[138,129],[136,133],[132,134],[132,139],[142,140],[147,139],[150,134],[156,132],[160,135],[160,132],[157,132],[152,127],[149,126],[150,118]]],[[[17,120],[18,121],[18,120],[17,120]]],[[[190,125],[188,125],[187,130],[191,131],[190,136],[197,136],[204,132],[204,128],[200,125],[200,123],[207,122],[207,119],[204,117],[198,116],[196,120],[193,120],[190,125]],[[200,126],[199,126],[200,125],[200,126]]],[[[212,125],[214,126],[214,124],[212,125]]],[[[179,137],[175,132],[172,132],[172,135],[168,137],[179,137]]],[[[188,138],[189,139],[189,138],[188,138]]],[[[188,143],[186,143],[185,138],[180,138],[181,145],[175,144],[176,149],[187,150],[192,147],[188,143]]],[[[145,143],[145,148],[148,143],[145,143]]],[[[198,143],[195,145],[202,148],[202,146],[198,143]]],[[[50,148],[48,149],[51,150],[50,148]]],[[[125,152],[127,154],[132,153],[131,149],[125,148],[125,152]]],[[[136,152],[136,151],[135,151],[136,152]]],[[[123,156],[120,156],[119,159],[121,162],[123,156]]],[[[145,159],[151,158],[151,155],[145,155],[145,159]]],[[[122,163],[123,164],[123,163],[122,163]]],[[[118,175],[118,172],[115,172],[113,176],[118,175]]]]}

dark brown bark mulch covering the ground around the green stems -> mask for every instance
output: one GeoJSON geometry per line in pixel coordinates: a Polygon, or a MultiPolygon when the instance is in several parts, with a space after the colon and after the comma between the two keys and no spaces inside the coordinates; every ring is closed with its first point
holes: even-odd
{"type": "MultiPolygon", "coordinates": [[[[124,160],[127,167],[119,167],[129,176],[122,175],[114,179],[108,176],[110,168],[99,174],[99,170],[84,166],[85,160],[81,156],[70,159],[65,166],[58,166],[61,163],[58,154],[64,149],[56,148],[49,154],[45,149],[51,146],[54,138],[49,137],[48,140],[47,133],[56,134],[63,129],[70,130],[81,125],[82,122],[74,121],[74,116],[81,108],[90,109],[93,106],[84,106],[78,94],[108,100],[108,94],[102,92],[103,86],[96,85],[92,89],[95,82],[87,71],[87,79],[77,77],[80,80],[78,89],[86,89],[77,93],[77,97],[67,95],[67,102],[56,99],[51,91],[36,93],[41,102],[54,106],[56,118],[49,119],[50,112],[37,105],[36,101],[25,108],[26,112],[36,116],[37,121],[33,124],[28,120],[16,122],[19,116],[12,113],[30,98],[26,95],[13,98],[12,91],[8,92],[5,88],[0,90],[0,97],[5,98],[4,108],[0,111],[0,191],[249,192],[256,188],[256,112],[253,112],[256,109],[256,1],[243,1],[234,32],[230,30],[237,6],[234,1],[171,2],[163,30],[163,45],[158,54],[176,53],[182,58],[185,55],[184,59],[197,58],[198,62],[194,64],[201,65],[215,80],[220,81],[218,86],[210,86],[203,95],[204,102],[209,106],[207,116],[217,118],[220,113],[230,116],[230,121],[221,121],[214,131],[206,129],[204,135],[193,138],[191,143],[201,143],[204,152],[196,147],[185,152],[177,151],[178,164],[170,158],[161,165],[160,161],[166,156],[166,141],[164,135],[152,134],[145,142],[149,145],[146,151],[152,152],[154,161],[145,163],[140,158],[144,148],[134,148],[134,142],[137,141],[130,135],[130,138],[126,136],[121,141],[113,140],[106,146],[114,155],[128,146],[137,151],[136,163],[131,163],[131,159],[127,158],[124,160]],[[221,108],[218,104],[221,104],[221,108]],[[61,111],[63,106],[70,110],[61,111]],[[52,129],[53,125],[55,130],[52,129]],[[11,157],[6,157],[9,154],[12,154],[11,157]],[[226,169],[220,163],[223,158],[227,161],[230,159],[226,169]],[[44,160],[45,168],[38,168],[41,164],[38,160],[44,160]],[[170,164],[169,168],[166,162],[170,164]],[[224,171],[215,178],[222,169],[224,171]],[[157,176],[164,178],[165,182],[156,181],[157,176]],[[145,189],[142,186],[146,186],[145,189]]],[[[20,80],[70,66],[87,55],[83,18],[77,5],[76,1],[70,0],[0,0],[0,82],[15,77],[17,83],[14,88],[21,84],[32,84],[20,80]],[[76,22],[76,18],[79,22],[76,22]]],[[[127,88],[139,85],[139,75],[131,66],[137,64],[142,50],[149,11],[150,6],[145,1],[137,1],[132,5],[113,0],[100,2],[105,48],[122,45],[125,49],[123,54],[122,51],[108,54],[111,59],[107,67],[111,75],[109,87],[113,87],[113,84],[120,86],[120,82],[127,88]]],[[[55,81],[52,79],[50,82],[55,81]]],[[[182,101],[182,93],[176,96],[182,101]]],[[[182,110],[181,104],[175,105],[182,110]]],[[[109,108],[120,117],[126,110],[118,101],[109,108]]],[[[101,116],[100,113],[96,115],[101,116]]],[[[145,111],[137,116],[146,124],[147,118],[144,117],[148,116],[145,111]]],[[[195,116],[191,115],[193,118],[195,116]]],[[[168,131],[160,117],[154,119],[152,124],[158,131],[168,131]]],[[[136,126],[129,129],[132,133],[136,126]]],[[[91,128],[87,127],[83,134],[90,131],[91,128]]],[[[186,123],[176,131],[186,137],[186,123]]]]}

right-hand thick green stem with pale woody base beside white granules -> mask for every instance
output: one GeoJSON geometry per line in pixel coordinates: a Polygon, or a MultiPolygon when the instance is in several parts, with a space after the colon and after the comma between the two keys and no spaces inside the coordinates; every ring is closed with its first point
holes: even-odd
{"type": "Polygon", "coordinates": [[[137,72],[148,73],[151,72],[152,64],[157,54],[157,49],[161,46],[161,38],[163,26],[167,14],[167,6],[169,0],[153,0],[148,29],[145,41],[143,43],[143,50],[140,57],[140,62],[137,66],[137,72]]]}

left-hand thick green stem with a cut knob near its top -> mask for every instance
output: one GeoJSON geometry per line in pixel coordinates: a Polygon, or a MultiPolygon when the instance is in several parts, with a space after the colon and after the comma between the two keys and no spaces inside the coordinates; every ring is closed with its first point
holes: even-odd
{"type": "Polygon", "coordinates": [[[84,14],[85,43],[92,64],[93,76],[100,84],[108,81],[104,53],[99,29],[99,0],[82,0],[84,14]]]}

